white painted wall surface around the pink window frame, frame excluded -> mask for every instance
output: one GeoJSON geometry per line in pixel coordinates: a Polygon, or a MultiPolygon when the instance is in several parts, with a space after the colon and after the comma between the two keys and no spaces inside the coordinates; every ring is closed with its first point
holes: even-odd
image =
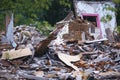
{"type": "Polygon", "coordinates": [[[107,14],[112,16],[112,20],[108,23],[103,23],[100,21],[102,37],[106,37],[105,28],[110,28],[112,31],[116,27],[116,17],[115,12],[105,10],[105,4],[110,4],[111,7],[115,7],[113,2],[86,2],[86,1],[77,1],[76,8],[77,14],[81,16],[82,13],[90,13],[90,14],[99,14],[99,18],[101,18],[107,14]]]}

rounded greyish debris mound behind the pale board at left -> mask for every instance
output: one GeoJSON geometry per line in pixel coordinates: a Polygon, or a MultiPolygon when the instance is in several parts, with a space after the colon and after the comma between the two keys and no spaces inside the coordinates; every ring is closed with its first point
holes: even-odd
{"type": "Polygon", "coordinates": [[[45,39],[45,36],[42,36],[42,34],[35,27],[21,25],[15,27],[14,39],[18,44],[17,48],[19,49],[25,48],[28,44],[36,47],[40,41],[45,39]]]}

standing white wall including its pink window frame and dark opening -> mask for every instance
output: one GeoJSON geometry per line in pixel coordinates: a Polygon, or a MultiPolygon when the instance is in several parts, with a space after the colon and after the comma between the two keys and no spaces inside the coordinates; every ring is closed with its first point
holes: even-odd
{"type": "MultiPolygon", "coordinates": [[[[99,30],[101,38],[107,37],[106,29],[114,31],[116,27],[115,4],[111,1],[76,1],[77,15],[82,19],[91,21],[95,29],[99,30]],[[111,19],[107,19],[110,17],[111,19]],[[104,20],[103,20],[104,19],[104,20]],[[107,21],[105,21],[105,19],[107,21]]],[[[91,30],[92,32],[92,30],[91,30]]],[[[92,32],[94,33],[94,32],[92,32]]]]}

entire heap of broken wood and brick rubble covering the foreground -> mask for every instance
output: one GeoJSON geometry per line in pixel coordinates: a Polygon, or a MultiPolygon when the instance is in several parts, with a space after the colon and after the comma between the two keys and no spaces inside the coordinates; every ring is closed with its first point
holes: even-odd
{"type": "Polygon", "coordinates": [[[73,24],[89,26],[81,19],[63,21],[47,38],[34,27],[16,27],[14,31],[14,39],[18,45],[16,51],[21,49],[23,51],[19,53],[21,55],[15,56],[22,57],[10,58],[10,55],[6,55],[6,58],[1,59],[0,78],[4,80],[119,80],[120,43],[110,43],[106,38],[99,39],[99,35],[95,35],[98,39],[97,37],[94,39],[86,31],[89,27],[81,28],[80,25],[72,30],[73,24]],[[78,32],[78,29],[82,31],[78,32]],[[31,52],[26,50],[26,47],[31,52]],[[28,61],[31,58],[28,55],[34,54],[32,61],[28,61]]]}

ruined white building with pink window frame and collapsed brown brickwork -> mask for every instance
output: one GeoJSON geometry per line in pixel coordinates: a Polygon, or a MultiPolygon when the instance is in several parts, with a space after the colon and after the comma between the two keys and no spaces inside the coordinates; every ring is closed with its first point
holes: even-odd
{"type": "Polygon", "coordinates": [[[77,13],[77,19],[72,22],[69,18],[57,23],[57,25],[66,24],[69,22],[69,27],[66,27],[63,35],[64,39],[77,39],[77,40],[98,40],[109,38],[111,42],[114,39],[110,39],[112,32],[116,27],[116,17],[115,12],[108,10],[107,8],[114,8],[115,4],[113,2],[106,1],[77,1],[75,4],[75,12],[77,13]],[[110,16],[111,19],[107,22],[102,21],[102,19],[107,19],[106,16],[110,16]],[[69,20],[68,20],[69,19],[69,20]]]}

